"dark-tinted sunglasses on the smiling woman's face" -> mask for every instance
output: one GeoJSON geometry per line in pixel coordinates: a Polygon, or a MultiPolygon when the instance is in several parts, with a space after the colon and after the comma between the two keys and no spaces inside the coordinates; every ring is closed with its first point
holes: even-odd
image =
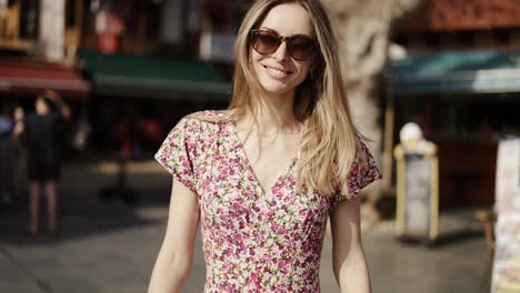
{"type": "Polygon", "coordinates": [[[318,43],[306,36],[282,37],[271,30],[250,31],[251,46],[260,54],[274,53],[283,41],[286,41],[289,55],[298,61],[306,61],[314,55],[318,49],[318,43]]]}

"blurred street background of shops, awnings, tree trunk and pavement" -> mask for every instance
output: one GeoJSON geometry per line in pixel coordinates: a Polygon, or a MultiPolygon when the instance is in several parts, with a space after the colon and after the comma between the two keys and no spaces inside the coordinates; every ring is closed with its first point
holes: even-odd
{"type": "MultiPolygon", "coordinates": [[[[0,0],[2,143],[16,109],[33,112],[46,89],[72,112],[59,238],[23,235],[23,151],[0,155],[13,182],[0,194],[0,292],[146,291],[171,183],[152,155],[187,113],[227,107],[234,34],[251,2],[0,0]]],[[[354,122],[384,174],[363,195],[374,292],[486,292],[490,242],[474,213],[494,203],[499,139],[520,132],[520,2],[324,2],[354,122]],[[392,153],[408,122],[437,145],[433,249],[393,235],[392,153]]],[[[336,292],[329,242],[323,250],[322,290],[336,292]]],[[[187,292],[202,291],[200,250],[196,257],[187,292]]]]}

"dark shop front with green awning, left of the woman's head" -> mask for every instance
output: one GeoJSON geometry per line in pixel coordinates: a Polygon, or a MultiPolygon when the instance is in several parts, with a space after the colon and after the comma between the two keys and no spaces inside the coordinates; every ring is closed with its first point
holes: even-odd
{"type": "Polygon", "coordinates": [[[80,60],[92,87],[92,141],[102,152],[142,156],[180,118],[226,108],[230,97],[230,83],[207,62],[92,51],[80,60]]]}

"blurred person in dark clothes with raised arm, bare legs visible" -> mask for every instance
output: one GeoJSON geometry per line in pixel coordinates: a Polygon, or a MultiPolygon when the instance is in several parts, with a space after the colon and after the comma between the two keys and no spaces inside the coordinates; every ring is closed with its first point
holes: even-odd
{"type": "Polygon", "coordinates": [[[22,134],[28,155],[29,226],[28,233],[39,232],[40,193],[47,196],[48,232],[58,235],[58,191],[64,121],[71,111],[53,90],[43,91],[36,99],[36,113],[16,125],[16,135],[22,134]]]}

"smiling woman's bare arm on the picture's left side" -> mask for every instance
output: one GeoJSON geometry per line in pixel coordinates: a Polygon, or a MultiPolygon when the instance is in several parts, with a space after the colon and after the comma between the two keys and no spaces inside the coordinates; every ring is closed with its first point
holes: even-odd
{"type": "Polygon", "coordinates": [[[173,180],[168,226],[148,287],[149,293],[180,292],[193,262],[199,223],[197,195],[173,180]]]}

